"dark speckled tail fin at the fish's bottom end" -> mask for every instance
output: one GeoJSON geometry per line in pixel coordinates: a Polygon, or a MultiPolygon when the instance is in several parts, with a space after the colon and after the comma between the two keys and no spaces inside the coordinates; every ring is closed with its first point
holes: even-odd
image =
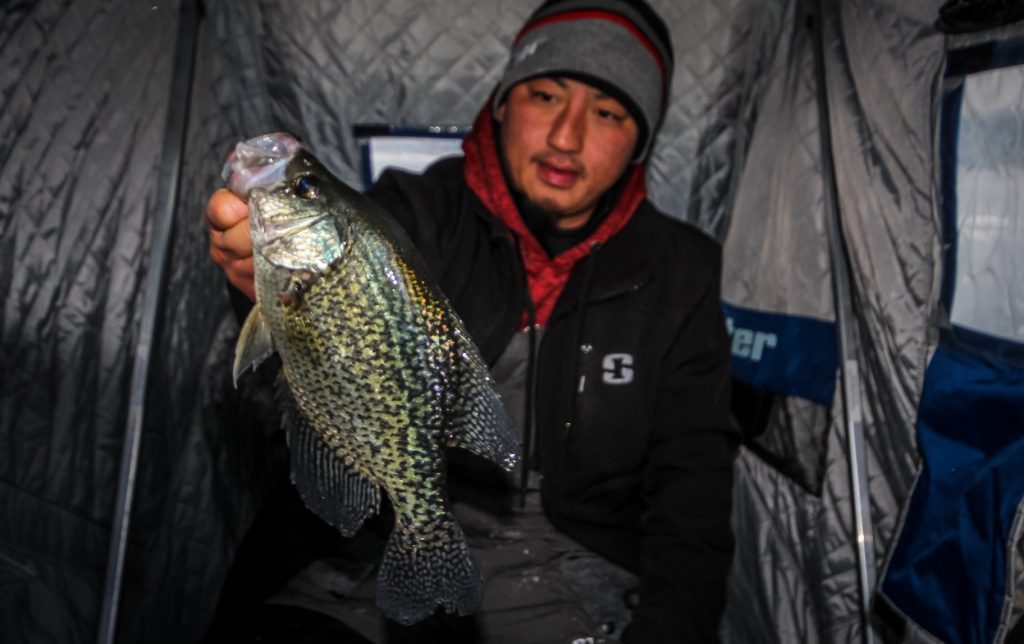
{"type": "Polygon", "coordinates": [[[426,535],[392,530],[377,577],[377,605],[390,619],[415,624],[438,605],[460,615],[479,608],[482,583],[466,539],[454,520],[445,523],[426,535]]]}

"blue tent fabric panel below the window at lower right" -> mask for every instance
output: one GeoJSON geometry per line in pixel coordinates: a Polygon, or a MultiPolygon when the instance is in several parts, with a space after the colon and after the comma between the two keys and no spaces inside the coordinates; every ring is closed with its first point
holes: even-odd
{"type": "Polygon", "coordinates": [[[1024,370],[940,347],[918,436],[925,465],[883,591],[943,642],[992,642],[1024,511],[1024,370]]]}

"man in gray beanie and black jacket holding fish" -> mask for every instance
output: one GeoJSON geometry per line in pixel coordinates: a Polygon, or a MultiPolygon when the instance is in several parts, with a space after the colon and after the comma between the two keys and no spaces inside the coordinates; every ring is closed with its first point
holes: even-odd
{"type": "MultiPolygon", "coordinates": [[[[465,158],[368,192],[409,231],[521,430],[515,481],[452,456],[486,583],[468,640],[717,639],[738,437],[719,248],[646,200],[672,70],[641,0],[549,0],[465,158]]],[[[208,204],[211,255],[252,298],[246,212],[226,190],[208,204]]],[[[428,628],[443,627],[410,641],[428,628]]]]}

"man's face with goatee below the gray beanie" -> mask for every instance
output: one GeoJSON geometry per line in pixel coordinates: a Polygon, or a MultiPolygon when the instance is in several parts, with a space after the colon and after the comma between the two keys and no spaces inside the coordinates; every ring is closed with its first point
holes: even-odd
{"type": "Polygon", "coordinates": [[[512,183],[565,229],[587,222],[637,142],[637,123],[623,103],[564,78],[515,85],[498,120],[512,183]]]}

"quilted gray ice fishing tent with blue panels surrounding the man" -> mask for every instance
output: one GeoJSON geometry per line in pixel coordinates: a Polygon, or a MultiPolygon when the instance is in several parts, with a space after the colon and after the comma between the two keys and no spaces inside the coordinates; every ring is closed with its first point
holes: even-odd
{"type": "MultiPolygon", "coordinates": [[[[651,1],[651,194],[724,244],[748,435],[724,639],[1021,641],[1021,3],[651,1]]],[[[353,126],[471,123],[536,4],[0,5],[4,641],[202,637],[273,463],[223,156],[291,130],[357,184],[353,126]]]]}

